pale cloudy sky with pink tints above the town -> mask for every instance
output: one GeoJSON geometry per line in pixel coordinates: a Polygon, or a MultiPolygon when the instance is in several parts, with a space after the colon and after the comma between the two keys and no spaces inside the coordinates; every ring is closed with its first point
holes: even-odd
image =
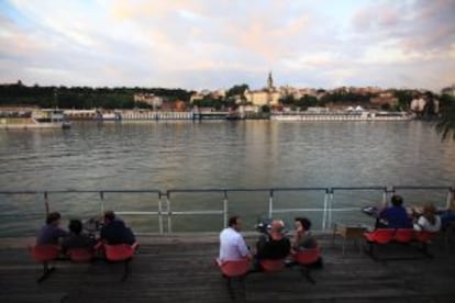
{"type": "Polygon", "coordinates": [[[455,0],[0,0],[0,83],[455,83],[455,0]]]}

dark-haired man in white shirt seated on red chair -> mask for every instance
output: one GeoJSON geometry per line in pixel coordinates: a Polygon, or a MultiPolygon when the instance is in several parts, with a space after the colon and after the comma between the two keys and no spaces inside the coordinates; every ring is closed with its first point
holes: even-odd
{"type": "Polygon", "coordinates": [[[221,262],[236,261],[243,258],[252,259],[252,254],[238,233],[242,228],[240,216],[232,216],[229,226],[220,233],[220,258],[221,262]]]}

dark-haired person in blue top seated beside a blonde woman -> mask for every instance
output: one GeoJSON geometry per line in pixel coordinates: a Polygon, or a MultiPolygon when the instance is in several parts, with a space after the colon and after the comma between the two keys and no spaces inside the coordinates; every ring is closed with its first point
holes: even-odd
{"type": "Polygon", "coordinates": [[[403,199],[395,194],[391,198],[392,205],[385,207],[379,213],[379,221],[385,221],[387,225],[377,225],[378,228],[412,228],[412,221],[407,210],[402,206],[403,199]]]}

